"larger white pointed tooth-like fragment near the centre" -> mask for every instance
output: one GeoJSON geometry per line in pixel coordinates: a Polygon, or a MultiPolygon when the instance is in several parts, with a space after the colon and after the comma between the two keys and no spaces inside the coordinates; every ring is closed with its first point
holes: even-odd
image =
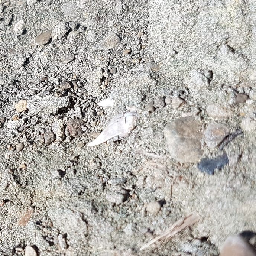
{"type": "Polygon", "coordinates": [[[118,114],[95,140],[88,143],[88,146],[97,146],[116,136],[127,136],[136,125],[136,117],[136,113],[133,112],[118,114]]]}

